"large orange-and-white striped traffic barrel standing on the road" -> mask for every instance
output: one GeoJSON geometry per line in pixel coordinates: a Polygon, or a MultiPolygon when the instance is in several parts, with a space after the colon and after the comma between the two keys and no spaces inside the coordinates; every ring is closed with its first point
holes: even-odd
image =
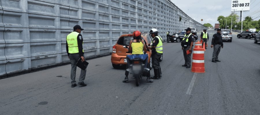
{"type": "Polygon", "coordinates": [[[195,47],[193,49],[191,72],[205,73],[204,49],[203,48],[195,47]]]}

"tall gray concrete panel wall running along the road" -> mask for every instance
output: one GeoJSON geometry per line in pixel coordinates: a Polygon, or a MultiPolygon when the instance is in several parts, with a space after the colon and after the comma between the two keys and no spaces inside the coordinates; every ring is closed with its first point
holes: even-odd
{"type": "Polygon", "coordinates": [[[122,34],[203,29],[169,0],[0,0],[0,78],[69,62],[66,35],[84,30],[86,58],[109,55],[122,34]],[[179,17],[182,20],[179,21],[179,17]]]}

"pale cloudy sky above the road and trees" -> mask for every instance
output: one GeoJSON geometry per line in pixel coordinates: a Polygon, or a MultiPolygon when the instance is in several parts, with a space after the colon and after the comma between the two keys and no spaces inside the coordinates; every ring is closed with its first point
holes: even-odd
{"type": "MultiPolygon", "coordinates": [[[[231,14],[231,0],[171,0],[181,10],[197,22],[210,23],[214,26],[218,23],[218,16],[229,16],[231,14]]],[[[243,18],[251,16],[254,20],[260,19],[260,0],[250,0],[250,11],[243,12],[243,18]],[[258,17],[258,18],[257,18],[258,17]]],[[[235,12],[240,16],[240,12],[235,12]]],[[[240,20],[240,18],[239,18],[240,20]]]]}

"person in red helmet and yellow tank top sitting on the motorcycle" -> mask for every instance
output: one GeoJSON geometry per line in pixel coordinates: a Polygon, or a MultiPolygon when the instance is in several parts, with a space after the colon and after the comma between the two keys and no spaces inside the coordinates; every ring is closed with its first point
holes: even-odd
{"type": "MultiPolygon", "coordinates": [[[[148,55],[144,54],[147,52],[146,50],[146,45],[144,43],[144,40],[141,39],[141,32],[140,31],[134,31],[133,32],[133,40],[130,41],[129,44],[129,52],[132,53],[132,55],[127,55],[127,67],[126,67],[126,72],[125,72],[125,79],[123,80],[123,82],[128,81],[128,71],[132,71],[130,68],[130,64],[131,64],[131,60],[135,59],[135,58],[140,58],[143,60],[144,63],[144,69],[146,69],[147,71],[149,71],[150,69],[147,68],[147,63],[148,63],[148,55]],[[144,52],[143,52],[144,50],[144,52]]],[[[150,76],[147,74],[147,81],[149,82],[153,82],[153,80],[150,78],[150,76]]]]}

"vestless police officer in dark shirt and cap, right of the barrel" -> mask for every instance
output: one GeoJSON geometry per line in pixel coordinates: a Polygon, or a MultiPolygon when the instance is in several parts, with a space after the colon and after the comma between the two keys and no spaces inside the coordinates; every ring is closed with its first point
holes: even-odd
{"type": "Polygon", "coordinates": [[[210,46],[211,48],[214,46],[211,62],[215,62],[215,63],[220,62],[220,60],[218,60],[218,54],[220,52],[220,49],[223,48],[222,35],[220,32],[221,29],[218,28],[217,33],[214,34],[212,37],[211,46],[210,46]]]}

